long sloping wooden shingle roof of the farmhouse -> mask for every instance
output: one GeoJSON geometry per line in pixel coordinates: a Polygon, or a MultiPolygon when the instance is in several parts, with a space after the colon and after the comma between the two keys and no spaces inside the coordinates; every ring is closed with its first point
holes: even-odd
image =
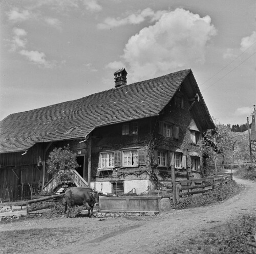
{"type": "Polygon", "coordinates": [[[190,69],[182,70],[80,99],[11,114],[0,122],[0,153],[24,151],[39,142],[84,138],[101,125],[156,116],[189,73],[193,76],[190,69]]]}

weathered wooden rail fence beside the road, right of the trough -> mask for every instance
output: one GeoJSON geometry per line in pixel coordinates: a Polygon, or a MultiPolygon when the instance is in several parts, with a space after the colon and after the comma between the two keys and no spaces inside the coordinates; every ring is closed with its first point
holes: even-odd
{"type": "Polygon", "coordinates": [[[227,183],[232,180],[232,173],[222,173],[218,176],[207,177],[204,179],[194,179],[180,181],[176,184],[175,198],[173,202],[179,202],[183,196],[190,196],[193,194],[201,194],[206,191],[213,190],[219,185],[227,183]]]}

